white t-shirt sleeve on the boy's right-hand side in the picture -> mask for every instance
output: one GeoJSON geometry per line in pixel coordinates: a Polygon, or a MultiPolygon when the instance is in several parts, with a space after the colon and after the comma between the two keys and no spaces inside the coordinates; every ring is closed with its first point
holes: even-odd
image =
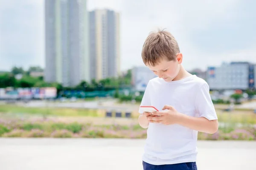
{"type": "Polygon", "coordinates": [[[209,94],[209,85],[205,83],[198,90],[195,98],[195,109],[199,117],[205,117],[208,120],[218,119],[211,96],[209,94]]]}

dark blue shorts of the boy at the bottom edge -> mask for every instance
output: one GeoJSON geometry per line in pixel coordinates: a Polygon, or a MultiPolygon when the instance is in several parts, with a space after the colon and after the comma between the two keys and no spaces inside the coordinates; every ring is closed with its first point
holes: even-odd
{"type": "Polygon", "coordinates": [[[143,170],[197,170],[196,162],[152,165],[143,161],[143,170]]]}

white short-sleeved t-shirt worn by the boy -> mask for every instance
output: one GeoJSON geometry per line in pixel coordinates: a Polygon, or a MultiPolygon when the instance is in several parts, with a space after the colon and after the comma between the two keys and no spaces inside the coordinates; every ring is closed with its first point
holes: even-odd
{"type": "MultiPolygon", "coordinates": [[[[164,105],[171,105],[189,116],[218,119],[207,82],[195,75],[172,82],[151,79],[141,105],[154,106],[159,111],[164,105]]],[[[143,161],[154,165],[196,161],[197,135],[198,131],[181,125],[149,123],[143,161]]]]}

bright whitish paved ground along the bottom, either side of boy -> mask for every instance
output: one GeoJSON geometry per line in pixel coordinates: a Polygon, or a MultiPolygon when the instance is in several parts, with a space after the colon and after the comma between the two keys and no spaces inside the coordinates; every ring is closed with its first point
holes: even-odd
{"type": "MultiPolygon", "coordinates": [[[[0,170],[142,170],[144,140],[0,138],[0,170]]],[[[198,170],[255,170],[256,142],[198,142],[198,170]]]]}

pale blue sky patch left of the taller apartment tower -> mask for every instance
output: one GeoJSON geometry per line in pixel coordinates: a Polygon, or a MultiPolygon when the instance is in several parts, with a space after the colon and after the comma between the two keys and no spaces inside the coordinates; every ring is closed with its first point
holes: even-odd
{"type": "Polygon", "coordinates": [[[0,1],[1,69],[44,64],[43,2],[0,1]]]}

